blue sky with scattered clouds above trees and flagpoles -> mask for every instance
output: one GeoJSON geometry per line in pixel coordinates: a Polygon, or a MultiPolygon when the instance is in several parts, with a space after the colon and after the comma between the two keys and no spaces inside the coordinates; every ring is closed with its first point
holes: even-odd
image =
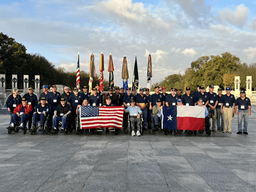
{"type": "Polygon", "coordinates": [[[72,72],[78,52],[80,70],[89,72],[93,53],[99,74],[103,52],[106,80],[111,53],[119,87],[123,57],[131,84],[137,56],[146,87],[148,54],[152,84],[184,74],[204,55],[230,52],[256,62],[256,0],[1,0],[0,32],[72,72]]]}

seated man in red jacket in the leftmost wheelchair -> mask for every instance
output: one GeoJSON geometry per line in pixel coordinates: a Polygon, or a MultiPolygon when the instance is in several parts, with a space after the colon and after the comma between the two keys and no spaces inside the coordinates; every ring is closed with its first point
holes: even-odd
{"type": "Polygon", "coordinates": [[[29,119],[29,113],[32,111],[32,106],[27,104],[26,98],[21,99],[21,104],[18,105],[12,113],[11,126],[8,127],[10,130],[14,130],[15,120],[20,121],[18,129],[23,129],[26,126],[26,121],[29,119]]]}

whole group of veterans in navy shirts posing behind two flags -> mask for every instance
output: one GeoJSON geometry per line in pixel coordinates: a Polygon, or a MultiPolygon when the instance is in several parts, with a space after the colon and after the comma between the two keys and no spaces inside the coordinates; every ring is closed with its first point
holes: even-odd
{"type": "MultiPolygon", "coordinates": [[[[55,85],[42,87],[43,93],[39,98],[33,93],[32,87],[29,87],[28,93],[23,98],[18,94],[17,89],[12,90],[12,94],[6,100],[6,107],[11,113],[11,122],[8,129],[14,130],[15,121],[20,121],[18,129],[24,129],[26,122],[29,121],[31,131],[37,130],[37,122],[40,122],[38,131],[44,131],[44,122],[46,117],[49,118],[49,127],[52,133],[58,131],[58,122],[61,122],[60,132],[67,130],[67,122],[73,130],[76,127],[76,116],[81,112],[81,105],[90,106],[123,106],[123,127],[128,128],[128,120],[131,122],[131,135],[140,136],[141,129],[148,129],[148,121],[154,119],[154,130],[161,131],[158,122],[162,119],[163,106],[171,107],[176,105],[199,106],[205,108],[205,128],[210,128],[212,119],[212,131],[231,132],[231,122],[233,114],[238,115],[238,132],[237,134],[248,134],[248,116],[251,113],[250,99],[246,97],[245,91],[242,90],[239,98],[235,98],[230,93],[230,87],[226,88],[225,95],[222,95],[221,88],[218,94],[214,93],[214,86],[209,86],[209,92],[205,91],[204,86],[198,85],[197,91],[191,93],[190,87],[186,87],[186,93],[181,94],[180,89],[171,89],[171,93],[166,93],[166,87],[155,87],[155,93],[150,94],[148,88],[140,88],[139,93],[136,89],[127,88],[125,93],[124,87],[115,87],[108,89],[108,93],[99,90],[99,84],[88,92],[85,85],[81,90],[64,87],[64,93],[57,92],[55,85]],[[145,92],[144,92],[145,91],[145,92]],[[33,117],[33,122],[31,119],[33,117]],[[39,120],[40,119],[40,120],[39,120]],[[242,128],[242,119],[244,127],[242,128]],[[143,120],[143,123],[142,123],[143,120]],[[228,123],[227,123],[228,122],[228,123]],[[135,125],[137,132],[135,133],[135,125]],[[141,125],[143,127],[141,127],[141,125]],[[216,128],[217,126],[217,128],[216,128]]],[[[106,131],[112,128],[106,128],[106,131]]],[[[72,130],[72,129],[71,129],[72,130]]],[[[76,130],[81,133],[81,130],[76,130]]],[[[103,131],[103,130],[102,130],[103,131]]]]}

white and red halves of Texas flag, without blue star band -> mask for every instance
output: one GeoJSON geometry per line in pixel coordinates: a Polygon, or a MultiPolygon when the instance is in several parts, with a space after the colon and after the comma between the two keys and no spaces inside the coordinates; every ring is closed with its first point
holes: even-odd
{"type": "Polygon", "coordinates": [[[204,129],[204,107],[177,106],[177,122],[179,130],[198,131],[204,129]]]}

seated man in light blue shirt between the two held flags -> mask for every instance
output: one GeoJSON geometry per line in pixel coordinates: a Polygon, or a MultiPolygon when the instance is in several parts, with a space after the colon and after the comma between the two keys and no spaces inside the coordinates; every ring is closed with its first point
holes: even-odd
{"type": "Polygon", "coordinates": [[[135,102],[133,99],[131,99],[131,106],[129,106],[127,109],[124,108],[124,111],[126,113],[129,112],[129,118],[131,121],[131,136],[135,136],[134,132],[134,125],[135,122],[137,122],[137,133],[136,135],[140,137],[140,128],[141,128],[141,118],[140,116],[142,115],[142,111],[138,106],[135,106],[135,102]]]}

